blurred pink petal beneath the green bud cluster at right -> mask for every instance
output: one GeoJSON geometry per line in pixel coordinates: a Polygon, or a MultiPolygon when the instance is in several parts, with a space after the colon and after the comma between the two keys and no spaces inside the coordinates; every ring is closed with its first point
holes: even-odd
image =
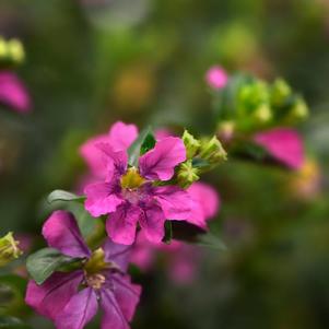
{"type": "Polygon", "coordinates": [[[254,137],[274,158],[292,169],[304,164],[304,146],[298,133],[290,128],[273,128],[254,137]]]}

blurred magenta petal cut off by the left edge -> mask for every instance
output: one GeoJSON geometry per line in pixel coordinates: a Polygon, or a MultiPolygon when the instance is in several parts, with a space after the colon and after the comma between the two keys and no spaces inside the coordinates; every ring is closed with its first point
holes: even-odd
{"type": "Polygon", "coordinates": [[[0,72],[0,103],[20,113],[31,109],[31,99],[25,86],[10,71],[0,72]]]}

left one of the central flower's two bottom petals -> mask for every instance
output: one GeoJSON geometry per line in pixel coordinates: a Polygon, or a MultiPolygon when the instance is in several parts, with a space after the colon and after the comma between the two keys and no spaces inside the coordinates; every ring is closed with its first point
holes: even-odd
{"type": "Polygon", "coordinates": [[[126,202],[117,208],[106,221],[106,231],[117,244],[131,245],[136,237],[137,222],[140,209],[126,202]]]}

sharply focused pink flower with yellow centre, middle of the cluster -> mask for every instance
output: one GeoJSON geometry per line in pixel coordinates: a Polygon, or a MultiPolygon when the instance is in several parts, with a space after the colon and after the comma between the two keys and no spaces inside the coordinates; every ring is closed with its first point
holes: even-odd
{"type": "MultiPolygon", "coordinates": [[[[120,124],[127,130],[128,126],[120,124]]],[[[175,167],[186,160],[186,150],[181,139],[163,138],[140,156],[137,168],[128,167],[127,149],[132,137],[136,138],[131,129],[121,134],[120,145],[113,141],[96,144],[103,153],[106,177],[105,181],[86,186],[85,208],[93,216],[109,215],[106,228],[116,243],[132,244],[138,225],[148,239],[157,243],[164,236],[165,220],[189,219],[191,199],[187,191],[153,185],[173,177],[175,167]]]]}

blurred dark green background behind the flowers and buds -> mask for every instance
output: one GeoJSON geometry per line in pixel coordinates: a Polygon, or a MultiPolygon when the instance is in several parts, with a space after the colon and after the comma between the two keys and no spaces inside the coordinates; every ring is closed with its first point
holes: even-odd
{"type": "Polygon", "coordinates": [[[0,108],[1,234],[39,232],[45,196],[86,169],[79,145],[117,119],[212,133],[210,66],[285,78],[310,107],[299,130],[314,164],[230,160],[209,174],[227,250],[202,249],[190,285],[162,265],[136,270],[132,328],[329,328],[329,1],[1,0],[0,34],[24,44],[33,99],[28,115],[0,108]]]}

